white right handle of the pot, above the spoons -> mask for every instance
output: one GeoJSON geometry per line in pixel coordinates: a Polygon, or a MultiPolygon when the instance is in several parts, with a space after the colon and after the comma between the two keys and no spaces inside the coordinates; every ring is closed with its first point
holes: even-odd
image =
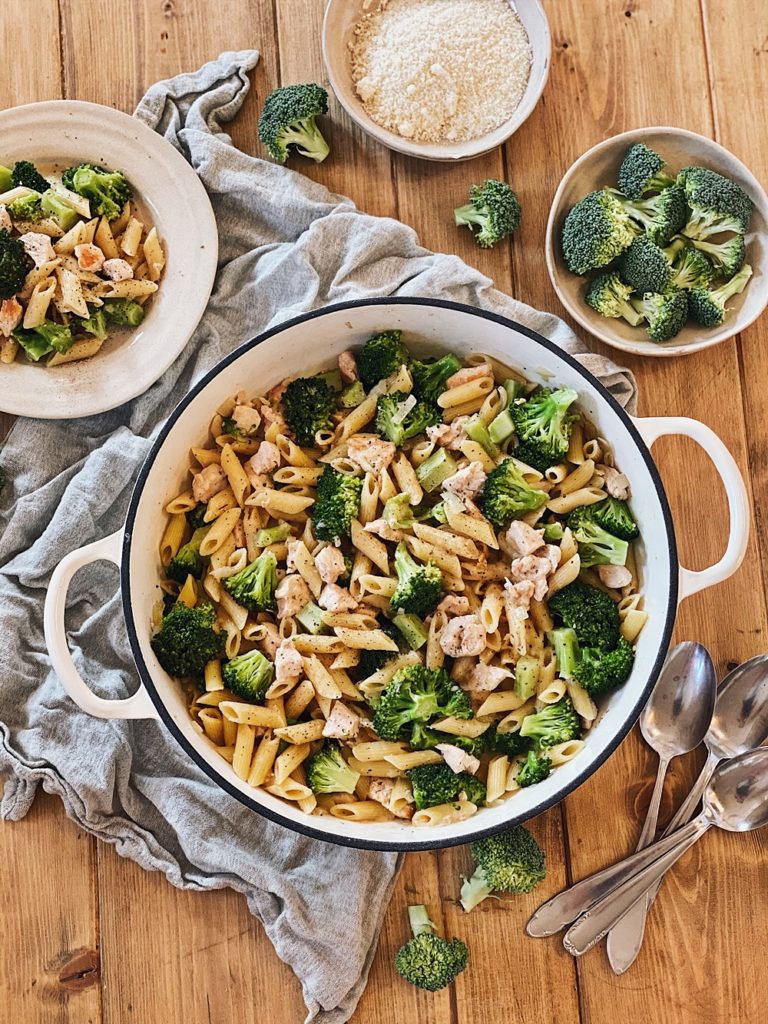
{"type": "Polygon", "coordinates": [[[636,419],[635,426],[648,447],[665,434],[684,434],[700,444],[720,474],[728,498],[730,535],[719,562],[700,571],[680,568],[679,595],[682,601],[699,590],[714,587],[733,575],[746,553],[750,539],[750,500],[738,466],[714,430],[685,416],[653,416],[636,419]]]}

